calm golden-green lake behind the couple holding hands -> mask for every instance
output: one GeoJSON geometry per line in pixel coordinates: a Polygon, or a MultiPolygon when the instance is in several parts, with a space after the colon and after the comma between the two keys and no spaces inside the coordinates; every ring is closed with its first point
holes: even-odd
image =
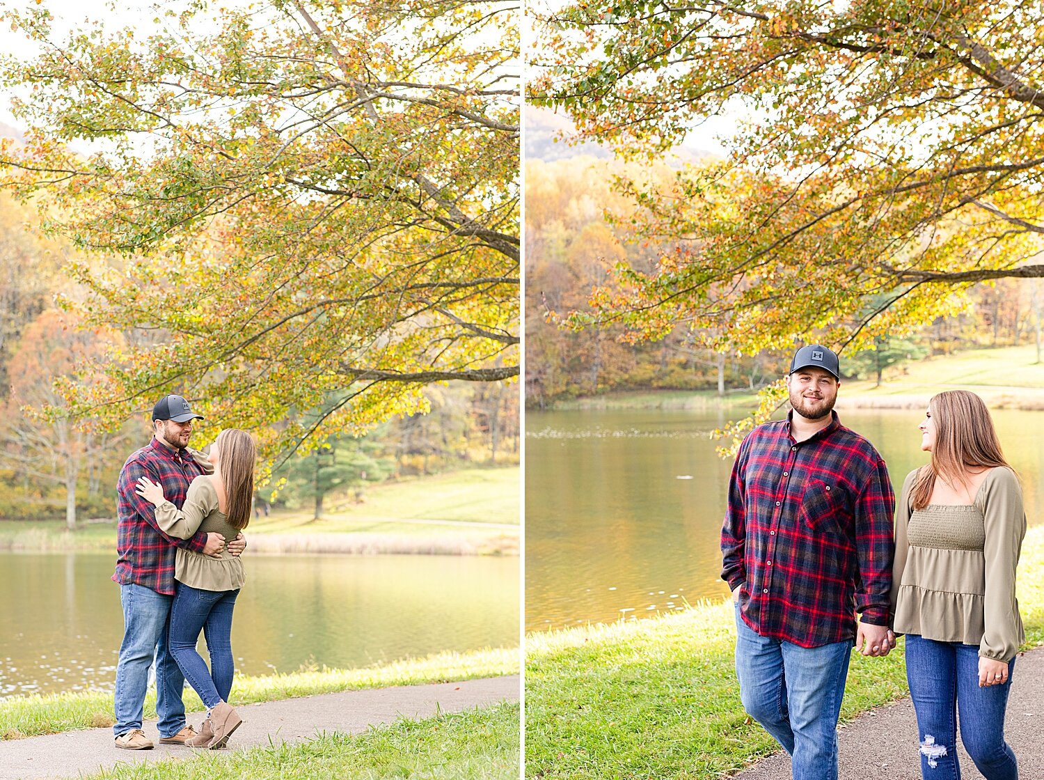
{"type": "MultiPolygon", "coordinates": [[[[710,432],[742,411],[526,412],[526,631],[610,622],[684,609],[728,592],[718,535],[732,459],[710,432]]],[[[1040,522],[1044,412],[993,411],[1040,522]]],[[[927,462],[923,410],[846,410],[898,491],[927,462]]]]}

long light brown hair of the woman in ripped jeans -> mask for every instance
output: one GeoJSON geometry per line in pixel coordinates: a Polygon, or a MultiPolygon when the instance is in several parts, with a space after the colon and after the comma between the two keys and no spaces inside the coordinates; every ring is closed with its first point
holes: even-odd
{"type": "Polygon", "coordinates": [[[935,424],[935,442],[931,448],[931,463],[918,470],[914,482],[915,510],[928,505],[935,477],[967,487],[970,468],[1012,468],[1000,450],[990,410],[974,393],[940,393],[928,402],[928,411],[935,424]]]}

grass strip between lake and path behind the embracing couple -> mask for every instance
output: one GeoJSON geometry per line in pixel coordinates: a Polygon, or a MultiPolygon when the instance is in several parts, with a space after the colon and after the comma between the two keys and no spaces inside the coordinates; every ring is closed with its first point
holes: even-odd
{"type": "MultiPolygon", "coordinates": [[[[422,685],[454,680],[516,675],[518,648],[441,653],[423,659],[397,661],[362,669],[309,669],[264,677],[237,676],[230,704],[274,702],[340,690],[422,685]]],[[[206,709],[195,691],[186,688],[188,712],[206,709]]],[[[145,700],[145,717],[156,717],[156,692],[145,700]]],[[[105,692],[50,693],[0,700],[0,737],[19,739],[76,729],[113,725],[113,694],[105,692]]]]}

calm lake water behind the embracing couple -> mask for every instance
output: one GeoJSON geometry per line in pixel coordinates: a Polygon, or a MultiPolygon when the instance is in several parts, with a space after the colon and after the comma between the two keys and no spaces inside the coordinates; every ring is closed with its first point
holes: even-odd
{"type": "MultiPolygon", "coordinates": [[[[247,557],[232,630],[242,673],[518,645],[516,557],[247,557]]],[[[115,562],[0,552],[0,695],[113,689],[123,636],[115,562]]]]}

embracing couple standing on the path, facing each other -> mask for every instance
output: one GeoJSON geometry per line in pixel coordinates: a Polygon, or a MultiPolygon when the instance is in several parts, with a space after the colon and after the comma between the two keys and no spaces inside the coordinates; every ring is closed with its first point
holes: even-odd
{"type": "Polygon", "coordinates": [[[116,666],[116,747],[148,750],[142,731],[148,669],[156,660],[160,741],[223,748],[242,723],[229,706],[232,610],[243,585],[239,556],[254,493],[254,440],[228,428],[205,455],[188,448],[192,421],[181,396],[152,409],[152,441],[120,471],[119,559],[123,643],[116,666]],[[203,630],[211,669],[196,652],[203,630]],[[185,680],[207,706],[199,732],[185,723],[185,680]]]}

